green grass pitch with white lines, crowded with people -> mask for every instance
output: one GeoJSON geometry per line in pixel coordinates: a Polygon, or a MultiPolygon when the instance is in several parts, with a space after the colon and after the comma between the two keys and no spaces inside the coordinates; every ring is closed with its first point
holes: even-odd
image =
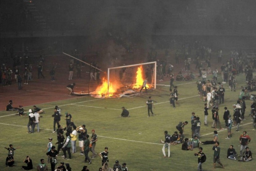
{"type": "MultiPolygon", "coordinates": [[[[224,85],[226,89],[225,103],[219,105],[219,115],[222,118],[224,107],[227,106],[231,114],[233,114],[232,105],[236,103],[239,91],[242,85],[245,85],[244,75],[237,76],[237,91],[233,92],[229,89],[228,84],[224,85]]],[[[161,83],[169,85],[169,82],[161,83]]],[[[40,120],[40,133],[27,134],[28,118],[22,118],[17,115],[11,115],[14,112],[0,112],[0,125],[1,125],[1,162],[0,170],[20,170],[24,164],[24,158],[29,155],[33,161],[34,168],[39,163],[41,158],[47,159],[44,149],[47,147],[48,138],[52,137],[53,142],[57,142],[56,133],[52,133],[54,106],[58,105],[62,114],[66,111],[72,114],[74,123],[78,125],[85,124],[88,129],[89,135],[91,130],[95,129],[98,135],[96,145],[96,152],[104,151],[104,147],[109,149],[109,166],[113,167],[115,160],[119,163],[127,163],[129,170],[134,171],[194,171],[197,170],[197,157],[193,154],[198,152],[198,149],[193,151],[181,150],[181,145],[171,145],[171,157],[162,158],[162,147],[160,139],[164,139],[164,131],[167,130],[169,134],[176,131],[176,125],[179,121],[188,121],[189,124],[185,126],[185,137],[191,137],[191,113],[194,111],[196,116],[200,117],[203,123],[204,118],[204,102],[200,100],[195,80],[192,82],[174,82],[178,85],[179,105],[175,109],[170,105],[169,87],[157,86],[157,89],[150,91],[148,94],[142,93],[141,96],[134,98],[105,98],[96,99],[93,97],[78,97],[72,100],[63,100],[57,102],[49,102],[47,104],[38,104],[46,112],[40,120]],[[145,102],[147,97],[152,96],[155,100],[155,113],[154,117],[147,117],[147,108],[145,102]],[[119,117],[122,110],[121,107],[125,106],[130,112],[129,118],[119,117]],[[20,146],[20,149],[15,151],[14,160],[15,166],[7,168],[5,166],[5,158],[8,151],[4,147],[13,144],[14,147],[20,146]]],[[[15,100],[15,99],[12,99],[15,100]]],[[[34,104],[33,104],[34,105],[34,104]]],[[[239,154],[239,136],[243,130],[252,138],[249,144],[252,151],[253,158],[255,154],[255,132],[252,130],[251,117],[248,116],[250,112],[250,100],[246,100],[246,121],[241,123],[240,132],[233,130],[233,136],[227,140],[227,130],[219,131],[219,142],[221,147],[221,162],[225,166],[225,170],[241,171],[241,170],[254,170],[254,161],[245,163],[229,160],[226,158],[227,149],[229,145],[234,145],[237,153],[239,154]]],[[[25,107],[30,109],[31,106],[25,107]]],[[[64,117],[61,118],[61,124],[65,125],[64,117]]],[[[213,128],[211,128],[212,118],[209,110],[208,117],[209,127],[202,124],[200,141],[207,141],[213,139],[213,128]]],[[[225,123],[221,120],[222,127],[225,123]]],[[[70,163],[72,171],[79,171],[84,166],[82,162],[84,156],[79,155],[78,141],[76,143],[78,148],[75,154],[72,154],[72,160],[64,160],[58,157],[58,163],[70,163]]],[[[207,156],[206,162],[203,164],[203,170],[213,170],[213,145],[200,145],[203,147],[203,152],[207,156]]],[[[61,152],[59,156],[63,155],[61,152]]],[[[92,153],[89,153],[91,156],[92,153]]],[[[88,165],[90,171],[97,171],[101,167],[101,158],[96,157],[92,159],[92,164],[88,165]]],[[[48,164],[50,168],[50,164],[48,164]]],[[[34,169],[36,170],[36,169],[34,169]]],[[[217,164],[216,170],[222,170],[217,164]]]]}

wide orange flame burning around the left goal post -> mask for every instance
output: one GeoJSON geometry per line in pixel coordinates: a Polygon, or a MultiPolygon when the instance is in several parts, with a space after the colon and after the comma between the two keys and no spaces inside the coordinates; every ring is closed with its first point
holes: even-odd
{"type": "MultiPolygon", "coordinates": [[[[113,93],[115,93],[116,90],[117,87],[115,87],[111,84],[111,82],[109,82],[109,97],[113,96],[113,93]]],[[[104,77],[102,78],[102,84],[96,88],[95,93],[101,95],[108,94],[108,81],[104,77]]]]}

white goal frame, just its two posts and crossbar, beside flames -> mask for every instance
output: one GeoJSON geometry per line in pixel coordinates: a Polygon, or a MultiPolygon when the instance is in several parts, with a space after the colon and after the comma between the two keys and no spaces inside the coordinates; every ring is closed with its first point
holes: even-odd
{"type": "MultiPolygon", "coordinates": [[[[156,62],[146,62],[146,63],[140,63],[140,64],[134,64],[134,65],[117,66],[117,67],[113,67],[113,68],[108,68],[108,96],[109,96],[110,70],[125,69],[125,68],[127,69],[127,68],[134,67],[134,66],[145,66],[145,65],[149,65],[149,64],[154,64],[152,81],[154,80],[154,89],[156,89],[156,62]]],[[[142,83],[140,86],[142,86],[142,83]]]]}

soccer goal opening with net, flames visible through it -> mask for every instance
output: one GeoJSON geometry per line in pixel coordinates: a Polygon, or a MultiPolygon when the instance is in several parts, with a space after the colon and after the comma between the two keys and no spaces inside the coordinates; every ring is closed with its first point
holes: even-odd
{"type": "Polygon", "coordinates": [[[156,88],[156,62],[147,62],[134,65],[108,68],[108,94],[111,88],[118,85],[119,88],[139,89],[144,79],[147,78],[147,88],[156,88]]]}

